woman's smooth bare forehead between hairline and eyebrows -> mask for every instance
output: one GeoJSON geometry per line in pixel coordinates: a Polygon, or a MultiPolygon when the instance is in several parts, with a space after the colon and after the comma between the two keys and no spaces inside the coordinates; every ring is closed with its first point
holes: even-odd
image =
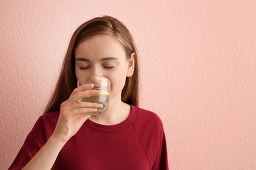
{"type": "Polygon", "coordinates": [[[102,58],[125,56],[121,42],[112,35],[96,35],[81,42],[75,49],[75,58],[102,58]]]}

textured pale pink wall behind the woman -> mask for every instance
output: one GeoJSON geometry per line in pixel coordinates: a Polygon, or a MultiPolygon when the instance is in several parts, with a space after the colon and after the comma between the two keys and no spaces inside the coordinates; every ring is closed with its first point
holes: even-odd
{"type": "Polygon", "coordinates": [[[256,169],[256,5],[238,1],[1,1],[0,169],[42,114],[75,28],[122,20],[140,52],[141,107],[171,169],[256,169]]]}

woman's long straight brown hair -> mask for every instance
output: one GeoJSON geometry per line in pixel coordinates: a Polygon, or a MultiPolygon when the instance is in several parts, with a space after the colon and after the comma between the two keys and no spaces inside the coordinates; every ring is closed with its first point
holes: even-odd
{"type": "Polygon", "coordinates": [[[133,76],[126,78],[125,86],[121,92],[121,100],[127,104],[139,106],[139,63],[133,36],[127,27],[116,18],[102,16],[80,25],[72,35],[62,63],[58,82],[44,113],[60,110],[60,104],[66,101],[77,87],[74,51],[81,42],[95,35],[112,35],[116,37],[123,44],[127,58],[130,58],[133,52],[135,53],[134,73],[133,76]]]}

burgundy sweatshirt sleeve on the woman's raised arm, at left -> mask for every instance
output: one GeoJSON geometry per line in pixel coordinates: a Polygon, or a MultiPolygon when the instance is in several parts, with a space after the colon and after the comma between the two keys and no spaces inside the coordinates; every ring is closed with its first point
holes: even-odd
{"type": "Polygon", "coordinates": [[[45,144],[45,134],[43,130],[43,120],[41,117],[35,122],[32,131],[26,137],[22,148],[18,152],[18,155],[12,162],[9,169],[22,169],[35,154],[45,144]]]}

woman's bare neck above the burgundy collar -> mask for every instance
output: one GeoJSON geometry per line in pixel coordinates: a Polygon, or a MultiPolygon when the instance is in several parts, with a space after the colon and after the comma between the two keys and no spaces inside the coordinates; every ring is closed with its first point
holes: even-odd
{"type": "Polygon", "coordinates": [[[130,114],[131,107],[123,103],[121,99],[110,99],[108,109],[97,116],[90,116],[90,120],[96,124],[115,125],[123,122],[130,114]]]}

